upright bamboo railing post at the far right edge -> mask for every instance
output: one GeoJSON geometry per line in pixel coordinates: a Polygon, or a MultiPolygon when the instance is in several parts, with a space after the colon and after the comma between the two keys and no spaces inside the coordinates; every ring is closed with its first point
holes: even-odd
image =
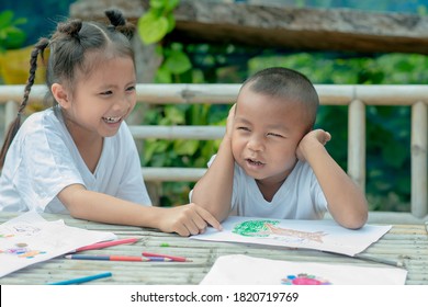
{"type": "Polygon", "coordinates": [[[428,106],[419,101],[412,106],[412,214],[428,214],[427,118],[428,106]]]}

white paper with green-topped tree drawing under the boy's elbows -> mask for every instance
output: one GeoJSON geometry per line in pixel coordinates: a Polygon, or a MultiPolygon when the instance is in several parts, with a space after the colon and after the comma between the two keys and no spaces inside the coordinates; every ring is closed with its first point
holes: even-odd
{"type": "Polygon", "coordinates": [[[209,228],[198,240],[307,248],[354,255],[385,235],[391,226],[365,225],[350,230],[330,219],[301,220],[230,216],[223,231],[209,228]]]}

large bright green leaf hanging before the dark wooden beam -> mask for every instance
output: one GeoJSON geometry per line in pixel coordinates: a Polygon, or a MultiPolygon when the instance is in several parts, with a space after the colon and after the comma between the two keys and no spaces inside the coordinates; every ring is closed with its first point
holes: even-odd
{"type": "Polygon", "coordinates": [[[137,29],[145,44],[154,44],[161,41],[168,33],[168,20],[148,12],[138,20],[137,29]]]}

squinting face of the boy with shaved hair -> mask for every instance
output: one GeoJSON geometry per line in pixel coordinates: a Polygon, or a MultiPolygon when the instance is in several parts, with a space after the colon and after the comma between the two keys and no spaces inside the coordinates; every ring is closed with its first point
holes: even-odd
{"type": "Polygon", "coordinates": [[[283,182],[297,162],[296,149],[308,123],[299,102],[244,88],[232,132],[235,161],[261,183],[283,182]]]}

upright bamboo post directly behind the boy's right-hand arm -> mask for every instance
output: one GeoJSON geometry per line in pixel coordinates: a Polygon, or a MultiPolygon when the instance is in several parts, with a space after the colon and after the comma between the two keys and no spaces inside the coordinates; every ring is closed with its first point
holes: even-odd
{"type": "Polygon", "coordinates": [[[353,100],[348,111],[348,174],[365,191],[365,105],[353,100]]]}

